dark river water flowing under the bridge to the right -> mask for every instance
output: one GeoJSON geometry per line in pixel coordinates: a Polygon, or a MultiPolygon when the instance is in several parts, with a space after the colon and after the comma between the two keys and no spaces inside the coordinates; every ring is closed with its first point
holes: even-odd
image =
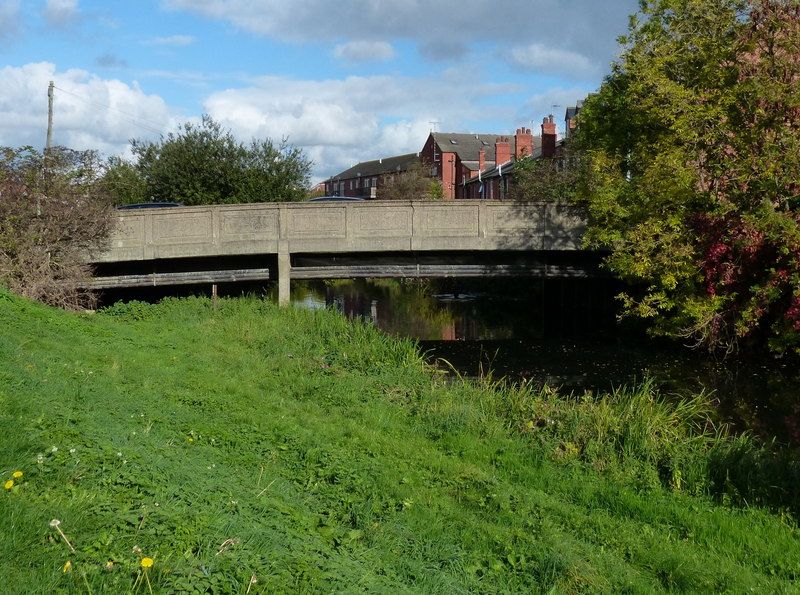
{"type": "Polygon", "coordinates": [[[612,280],[355,280],[298,283],[293,302],[335,307],[419,341],[461,374],[527,379],[565,392],[652,378],[663,391],[706,391],[722,421],[800,445],[800,367],[725,361],[620,325],[612,280]]]}

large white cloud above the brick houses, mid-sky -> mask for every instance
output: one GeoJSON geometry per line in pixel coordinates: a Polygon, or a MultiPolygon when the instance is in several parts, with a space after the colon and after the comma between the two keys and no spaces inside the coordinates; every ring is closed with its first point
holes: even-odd
{"type": "Polygon", "coordinates": [[[314,159],[321,179],[357,161],[419,151],[434,120],[442,130],[464,131],[467,122],[492,115],[482,99],[511,90],[449,76],[264,77],[212,94],[204,109],[243,140],[287,137],[314,159]]]}

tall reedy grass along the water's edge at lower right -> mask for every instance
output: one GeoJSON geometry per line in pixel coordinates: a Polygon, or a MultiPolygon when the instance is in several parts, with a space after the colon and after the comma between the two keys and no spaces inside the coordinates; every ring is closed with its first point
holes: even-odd
{"type": "Polygon", "coordinates": [[[485,409],[555,461],[579,462],[640,489],[664,487],[800,518],[798,453],[731,434],[715,421],[704,393],[663,395],[650,379],[577,396],[533,383],[477,385],[485,409]]]}

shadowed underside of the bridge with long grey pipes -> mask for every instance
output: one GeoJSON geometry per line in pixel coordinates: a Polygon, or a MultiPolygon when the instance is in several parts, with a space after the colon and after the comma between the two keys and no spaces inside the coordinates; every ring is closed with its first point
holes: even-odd
{"type": "MultiPolygon", "coordinates": [[[[445,278],[606,276],[601,254],[580,251],[296,253],[288,278],[445,278]]],[[[277,280],[275,254],[163,259],[96,266],[94,289],[203,285],[277,280]]]]}

